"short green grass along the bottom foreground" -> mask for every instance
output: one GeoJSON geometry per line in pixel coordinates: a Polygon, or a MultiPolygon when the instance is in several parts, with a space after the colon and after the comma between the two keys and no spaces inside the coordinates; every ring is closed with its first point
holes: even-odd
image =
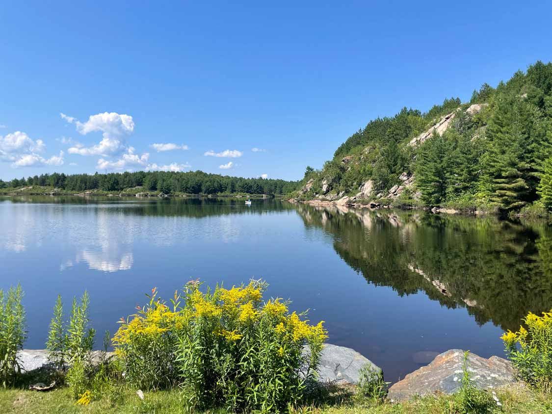
{"type": "MultiPolygon", "coordinates": [[[[138,414],[138,413],[186,413],[185,399],[178,391],[145,392],[144,400],[135,390],[122,389],[115,394],[116,400],[104,397],[92,401],[88,406],[78,406],[67,388],[50,392],[27,390],[0,390],[0,412],[5,414],[138,414]]],[[[552,396],[539,393],[516,384],[497,389],[496,395],[502,407],[496,407],[496,413],[533,414],[552,413],[552,396]]],[[[298,408],[292,408],[293,414],[459,414],[454,405],[455,396],[426,396],[400,404],[383,402],[358,402],[353,398],[351,388],[334,386],[321,400],[298,408]]],[[[192,411],[193,412],[193,411],[192,411]]],[[[222,414],[225,411],[208,411],[210,414],[222,414]]]]}

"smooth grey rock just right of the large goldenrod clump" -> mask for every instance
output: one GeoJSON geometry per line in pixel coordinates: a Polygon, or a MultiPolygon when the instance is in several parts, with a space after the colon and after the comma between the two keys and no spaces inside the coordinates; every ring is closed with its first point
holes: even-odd
{"type": "Polygon", "coordinates": [[[319,381],[358,384],[360,368],[364,365],[374,371],[381,371],[381,368],[354,349],[327,343],[320,357],[319,381]]]}

